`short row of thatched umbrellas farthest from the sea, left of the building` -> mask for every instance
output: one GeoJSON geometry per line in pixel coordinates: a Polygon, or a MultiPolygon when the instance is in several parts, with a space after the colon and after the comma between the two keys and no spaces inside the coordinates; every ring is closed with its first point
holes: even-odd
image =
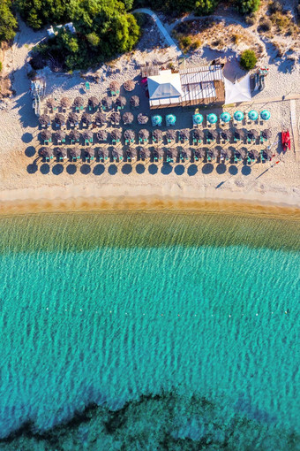
{"type": "MultiPolygon", "coordinates": [[[[115,103],[117,106],[124,107],[125,104],[127,103],[127,99],[124,96],[118,96],[118,97],[116,97],[115,103]]],[[[139,106],[139,103],[140,103],[139,96],[131,96],[130,103],[132,106],[139,106]]],[[[46,104],[47,104],[48,108],[50,108],[50,109],[54,109],[57,106],[56,99],[54,99],[53,97],[50,97],[49,99],[47,99],[46,104]]],[[[85,104],[85,99],[84,99],[84,97],[81,97],[81,96],[76,97],[73,102],[71,101],[71,99],[69,97],[63,97],[60,100],[60,106],[62,106],[63,108],[69,108],[69,107],[71,107],[71,105],[80,108],[80,107],[83,107],[84,104],[85,104]]],[[[103,97],[100,101],[99,99],[97,99],[97,97],[92,96],[92,97],[89,97],[87,104],[91,108],[97,108],[100,104],[102,104],[106,108],[112,108],[113,99],[109,96],[106,96],[106,97],[103,97]]]]}

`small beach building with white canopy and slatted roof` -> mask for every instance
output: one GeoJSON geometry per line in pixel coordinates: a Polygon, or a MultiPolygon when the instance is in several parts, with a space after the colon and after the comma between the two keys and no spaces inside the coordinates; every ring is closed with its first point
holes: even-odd
{"type": "Polygon", "coordinates": [[[176,72],[161,70],[148,75],[150,108],[223,104],[225,80],[222,66],[205,65],[176,72]]]}

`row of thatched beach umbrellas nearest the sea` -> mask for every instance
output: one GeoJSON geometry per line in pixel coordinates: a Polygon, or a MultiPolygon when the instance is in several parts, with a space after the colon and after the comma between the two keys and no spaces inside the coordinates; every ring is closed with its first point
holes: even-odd
{"type": "MultiPolygon", "coordinates": [[[[98,157],[104,158],[109,157],[109,149],[80,149],[79,147],[74,147],[65,149],[65,148],[46,148],[42,147],[39,151],[39,154],[41,157],[51,157],[54,155],[55,157],[67,157],[67,153],[69,152],[69,156],[71,158],[79,158],[83,154],[85,157],[92,157],[96,153],[98,157]]],[[[116,149],[113,148],[110,150],[111,156],[114,158],[121,157],[123,155],[122,149],[116,149]]],[[[167,158],[174,158],[174,157],[184,157],[188,158],[188,151],[183,148],[178,149],[144,149],[143,147],[139,148],[133,148],[130,147],[124,151],[125,155],[127,157],[137,157],[139,155],[140,158],[150,158],[152,156],[154,157],[163,157],[164,154],[167,158]]],[[[266,158],[272,157],[272,149],[265,149],[263,151],[264,156],[266,158]]],[[[190,149],[191,157],[197,157],[197,158],[205,158],[205,157],[211,157],[211,158],[218,158],[221,157],[221,159],[229,159],[233,156],[236,158],[246,158],[250,157],[251,159],[259,158],[259,151],[257,149],[251,149],[248,150],[246,148],[241,149],[234,149],[234,148],[225,148],[222,149],[220,147],[214,147],[213,149],[206,149],[206,148],[199,148],[199,149],[190,149]]]]}

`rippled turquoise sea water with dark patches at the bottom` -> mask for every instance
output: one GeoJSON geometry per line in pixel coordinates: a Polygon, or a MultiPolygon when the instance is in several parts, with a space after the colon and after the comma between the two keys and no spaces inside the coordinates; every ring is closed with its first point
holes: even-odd
{"type": "Polygon", "coordinates": [[[195,216],[173,215],[175,243],[146,246],[139,224],[121,247],[124,218],[91,218],[60,217],[51,249],[43,218],[0,221],[0,447],[296,449],[300,253],[290,223],[273,218],[273,248],[249,247],[235,238],[255,218],[226,231],[224,218],[204,217],[202,231],[214,223],[227,244],[199,245],[181,240],[184,221],[199,232],[195,216]],[[76,228],[81,244],[68,249],[68,227],[82,221],[105,245],[76,228]]]}

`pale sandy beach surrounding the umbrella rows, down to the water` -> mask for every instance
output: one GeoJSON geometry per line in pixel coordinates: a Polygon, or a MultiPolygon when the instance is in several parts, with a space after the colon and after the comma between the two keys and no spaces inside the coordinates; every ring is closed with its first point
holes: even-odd
{"type": "MultiPolygon", "coordinates": [[[[11,203],[20,210],[24,205],[25,210],[28,210],[29,205],[35,205],[36,208],[41,203],[41,209],[44,210],[47,205],[56,205],[57,208],[59,203],[74,208],[76,203],[86,204],[87,200],[89,205],[104,207],[109,201],[109,205],[113,204],[114,208],[121,210],[137,201],[145,208],[152,208],[153,201],[168,207],[170,203],[178,206],[184,202],[204,200],[300,207],[299,65],[283,74],[276,70],[276,64],[271,63],[265,91],[253,97],[251,105],[238,106],[244,111],[249,111],[251,107],[258,111],[263,108],[271,111],[272,119],[268,127],[273,131],[270,144],[275,157],[265,164],[190,161],[165,164],[148,160],[131,163],[53,160],[46,164],[38,156],[38,147],[41,146],[38,135],[41,130],[32,109],[28,93],[29,80],[26,77],[28,52],[44,36],[45,30],[34,33],[21,22],[15,43],[5,53],[4,70],[11,75],[14,95],[0,103],[2,212],[5,212],[6,207],[6,211],[11,210],[11,203]],[[288,95],[284,100],[278,99],[288,95]],[[289,128],[292,136],[291,150],[285,154],[281,152],[278,142],[282,128],[289,128]]],[[[98,82],[91,81],[88,93],[84,89],[85,80],[79,73],[71,75],[44,71],[47,96],[74,98],[80,95],[87,102],[89,96],[103,96],[111,80],[121,84],[125,80],[137,80],[142,61],[160,61],[163,64],[174,57],[174,49],[141,50],[146,45],[146,37],[143,39],[139,49],[116,60],[113,69],[103,65],[96,73],[98,82]]],[[[206,51],[206,60],[210,57],[214,55],[207,55],[206,51]]],[[[236,106],[230,105],[226,111],[232,113],[236,111],[236,106]]]]}

